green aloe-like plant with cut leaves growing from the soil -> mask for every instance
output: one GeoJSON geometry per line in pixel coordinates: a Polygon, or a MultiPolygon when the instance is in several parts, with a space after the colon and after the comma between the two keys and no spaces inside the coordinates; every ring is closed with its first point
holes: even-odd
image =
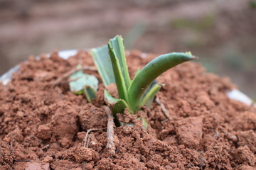
{"type": "Polygon", "coordinates": [[[131,80],[120,35],[112,38],[107,45],[92,49],[92,56],[105,86],[112,83],[117,85],[119,98],[113,98],[105,90],[105,101],[114,114],[122,113],[124,108],[136,113],[142,106],[149,106],[161,89],[161,84],[156,83],[155,79],[171,67],[196,58],[191,52],[160,55],[139,70],[131,80]],[[102,63],[102,60],[105,62],[102,63]]]}

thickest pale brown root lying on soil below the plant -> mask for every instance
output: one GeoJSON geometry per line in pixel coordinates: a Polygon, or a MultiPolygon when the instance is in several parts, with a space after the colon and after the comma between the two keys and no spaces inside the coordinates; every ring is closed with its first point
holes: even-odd
{"type": "Polygon", "coordinates": [[[110,108],[107,106],[102,106],[105,113],[107,114],[107,149],[110,150],[110,154],[115,154],[115,146],[114,146],[114,117],[110,108]]]}

